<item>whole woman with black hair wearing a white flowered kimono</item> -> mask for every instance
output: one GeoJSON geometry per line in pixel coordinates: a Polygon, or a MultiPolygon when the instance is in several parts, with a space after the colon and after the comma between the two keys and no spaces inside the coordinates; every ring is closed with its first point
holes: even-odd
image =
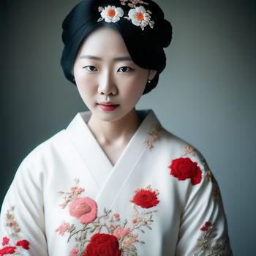
{"type": "Polygon", "coordinates": [[[0,255],[232,254],[205,159],[152,110],[135,110],[171,37],[150,0],[85,0],[67,15],[61,67],[90,111],[21,163],[0,255]]]}

